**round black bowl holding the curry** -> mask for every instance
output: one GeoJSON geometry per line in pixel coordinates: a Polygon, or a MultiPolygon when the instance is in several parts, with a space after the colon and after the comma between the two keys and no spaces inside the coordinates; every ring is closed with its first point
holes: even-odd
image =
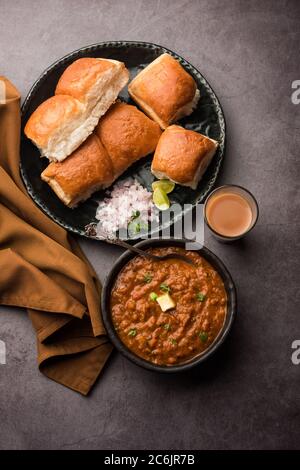
{"type": "MultiPolygon", "coordinates": [[[[150,247],[159,247],[159,246],[184,247],[185,241],[172,239],[172,238],[168,240],[150,239],[150,240],[141,241],[137,243],[136,246],[142,249],[147,249],[150,247]]],[[[234,282],[232,280],[230,273],[228,272],[227,268],[224,266],[222,261],[216,255],[214,255],[210,250],[208,250],[205,247],[202,247],[201,249],[198,250],[198,253],[201,256],[203,256],[203,258],[205,258],[215,268],[215,270],[220,274],[224,282],[226,292],[227,292],[227,299],[228,299],[226,320],[219,336],[203,353],[195,356],[194,358],[190,359],[188,362],[177,364],[174,366],[156,365],[156,364],[153,364],[152,362],[146,361],[145,359],[142,359],[141,357],[137,356],[125,346],[125,344],[121,341],[121,339],[119,338],[118,334],[116,333],[114,329],[112,318],[111,318],[111,311],[110,311],[111,289],[114,285],[114,282],[119,272],[123,268],[123,266],[125,266],[128,263],[128,261],[134,258],[136,255],[132,253],[131,251],[125,251],[125,253],[123,253],[123,255],[121,255],[120,258],[117,259],[112,270],[110,271],[104,283],[103,290],[102,290],[101,307],[102,307],[102,316],[103,316],[104,325],[107,330],[108,336],[111,339],[111,342],[114,344],[117,350],[120,351],[120,353],[122,353],[125,357],[127,357],[130,361],[134,362],[138,366],[144,367],[145,369],[149,369],[152,371],[165,372],[165,373],[181,372],[187,369],[191,369],[192,367],[195,367],[196,365],[200,364],[201,362],[205,361],[208,357],[210,357],[221,346],[226,336],[228,335],[231,329],[234,317],[235,317],[236,306],[237,306],[236,289],[235,289],[234,282]]]]}

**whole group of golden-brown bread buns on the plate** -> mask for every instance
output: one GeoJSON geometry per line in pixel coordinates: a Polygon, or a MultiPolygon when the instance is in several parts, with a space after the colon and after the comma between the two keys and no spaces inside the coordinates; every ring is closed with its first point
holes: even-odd
{"type": "Polygon", "coordinates": [[[25,126],[26,136],[50,160],[41,178],[69,207],[109,187],[153,152],[155,176],[195,188],[215,153],[213,139],[170,125],[191,114],[200,96],[178,61],[162,54],[130,83],[131,98],[149,117],[117,101],[128,81],[122,62],[78,59],[25,126]]]}

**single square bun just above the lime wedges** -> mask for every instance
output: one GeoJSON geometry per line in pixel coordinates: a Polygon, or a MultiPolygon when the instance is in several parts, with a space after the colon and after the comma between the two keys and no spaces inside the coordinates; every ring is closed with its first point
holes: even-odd
{"type": "Polygon", "coordinates": [[[196,189],[211,162],[218,142],[181,126],[170,126],[162,134],[152,160],[151,172],[182,186],[196,189]]]}

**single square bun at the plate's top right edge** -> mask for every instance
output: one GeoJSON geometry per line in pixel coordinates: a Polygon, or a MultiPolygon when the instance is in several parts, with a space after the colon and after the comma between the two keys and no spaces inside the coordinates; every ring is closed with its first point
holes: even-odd
{"type": "Polygon", "coordinates": [[[200,92],[193,77],[169,54],[162,54],[129,84],[131,98],[162,129],[188,116],[200,92]]]}

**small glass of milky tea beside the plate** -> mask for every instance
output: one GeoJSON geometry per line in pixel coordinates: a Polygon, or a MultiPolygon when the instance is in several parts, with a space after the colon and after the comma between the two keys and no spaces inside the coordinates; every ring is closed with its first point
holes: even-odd
{"type": "Polygon", "coordinates": [[[223,242],[244,237],[258,219],[258,204],[253,194],[234,184],[220,186],[210,193],[204,204],[204,220],[223,242]]]}

